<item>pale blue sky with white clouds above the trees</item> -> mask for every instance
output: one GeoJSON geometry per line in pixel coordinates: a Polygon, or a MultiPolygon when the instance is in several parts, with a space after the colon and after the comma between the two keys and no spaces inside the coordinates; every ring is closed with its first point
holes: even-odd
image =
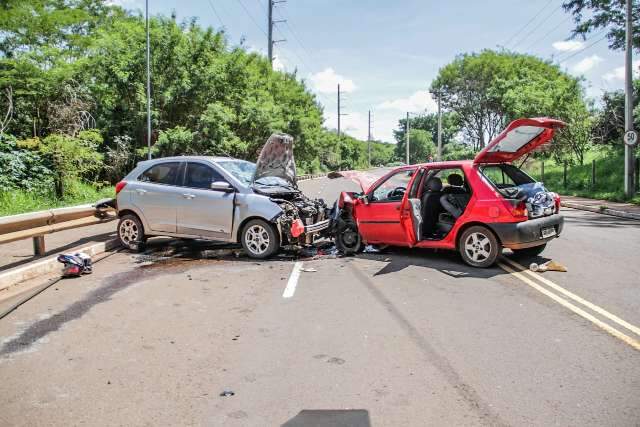
{"type": "MultiPolygon", "coordinates": [[[[128,9],[144,0],[111,0],[128,9]]],[[[379,1],[288,0],[276,5],[278,67],[294,70],[325,107],[325,126],[336,127],[336,85],[345,90],[343,129],[392,141],[406,111],[435,111],[427,90],[438,69],[459,53],[505,46],[560,62],[584,76],[588,96],[622,88],[624,53],[610,51],[604,33],[570,40],[572,19],[562,0],[379,1]],[[532,20],[533,19],[533,20],[532,20]],[[531,22],[530,22],[531,21],[531,22]],[[529,23],[530,22],[530,23],[529,23]],[[527,25],[527,23],[529,23],[527,25]],[[592,46],[590,46],[592,45],[592,46]],[[586,49],[584,49],[586,47],[586,49]],[[584,49],[584,50],[582,50],[584,49]]],[[[233,45],[266,52],[267,0],[149,0],[151,14],[197,17],[224,27],[233,45]]],[[[640,62],[634,58],[634,68],[640,62]]]]}

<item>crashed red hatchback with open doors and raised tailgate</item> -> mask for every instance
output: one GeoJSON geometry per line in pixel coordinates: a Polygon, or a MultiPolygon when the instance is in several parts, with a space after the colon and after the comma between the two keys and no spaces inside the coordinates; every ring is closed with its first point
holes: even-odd
{"type": "Polygon", "coordinates": [[[362,193],[341,193],[333,213],[338,248],[451,249],[474,267],[491,266],[502,248],[538,255],[562,231],[560,197],[512,162],[549,143],[564,125],[515,120],[474,160],[402,166],[362,193]]]}

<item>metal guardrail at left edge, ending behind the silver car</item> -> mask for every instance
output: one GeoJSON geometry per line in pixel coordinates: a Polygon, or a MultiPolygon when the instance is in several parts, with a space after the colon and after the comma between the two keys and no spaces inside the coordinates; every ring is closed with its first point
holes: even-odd
{"type": "Polygon", "coordinates": [[[0,217],[0,244],[33,238],[33,253],[46,252],[44,236],[57,231],[85,227],[112,221],[116,218],[115,209],[95,205],[72,206],[49,209],[19,215],[0,217]]]}

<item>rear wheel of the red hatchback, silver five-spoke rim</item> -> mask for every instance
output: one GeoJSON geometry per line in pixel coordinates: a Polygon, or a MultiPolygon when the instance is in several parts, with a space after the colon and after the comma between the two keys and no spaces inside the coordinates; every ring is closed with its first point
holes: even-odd
{"type": "Polygon", "coordinates": [[[486,268],[496,262],[501,246],[491,230],[474,225],[464,230],[460,236],[458,250],[464,262],[470,266],[486,268]]]}

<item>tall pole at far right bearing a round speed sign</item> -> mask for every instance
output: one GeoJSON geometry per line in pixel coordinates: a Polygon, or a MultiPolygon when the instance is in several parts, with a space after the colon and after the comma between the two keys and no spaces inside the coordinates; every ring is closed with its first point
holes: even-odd
{"type": "MultiPolygon", "coordinates": [[[[624,194],[627,197],[633,197],[634,188],[634,169],[635,169],[635,145],[638,138],[633,133],[633,86],[632,86],[632,25],[631,25],[631,3],[627,0],[627,25],[626,25],[626,52],[625,52],[625,145],[624,145],[624,194]]],[[[637,173],[638,171],[635,171],[637,173]]]]}

